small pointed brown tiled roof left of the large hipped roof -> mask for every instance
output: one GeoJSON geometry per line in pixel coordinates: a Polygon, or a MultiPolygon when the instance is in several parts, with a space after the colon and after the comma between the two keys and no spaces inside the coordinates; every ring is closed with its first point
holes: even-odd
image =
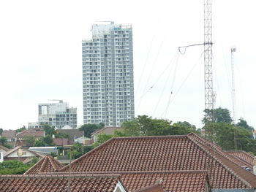
{"type": "Polygon", "coordinates": [[[56,172],[56,170],[61,169],[63,165],[59,161],[55,160],[52,156],[46,155],[41,158],[37,164],[31,166],[24,174],[40,174],[43,172],[56,172]]]}

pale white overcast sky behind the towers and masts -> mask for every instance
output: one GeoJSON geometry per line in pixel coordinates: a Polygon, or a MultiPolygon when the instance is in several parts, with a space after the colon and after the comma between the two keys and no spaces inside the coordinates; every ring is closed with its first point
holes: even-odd
{"type": "MultiPolygon", "coordinates": [[[[256,126],[256,1],[213,0],[215,107],[256,126]]],[[[0,1],[0,128],[27,126],[49,99],[78,107],[83,124],[82,39],[98,21],[132,23],[135,116],[188,121],[201,128],[204,110],[203,0],[0,1]]]]}

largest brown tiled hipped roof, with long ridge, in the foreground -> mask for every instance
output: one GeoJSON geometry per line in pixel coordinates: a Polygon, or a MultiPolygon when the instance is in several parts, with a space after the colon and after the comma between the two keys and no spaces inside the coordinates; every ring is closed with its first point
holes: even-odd
{"type": "MultiPolygon", "coordinates": [[[[256,176],[196,134],[113,138],[71,164],[72,172],[206,170],[213,188],[256,188],[256,176]]],[[[60,172],[67,172],[64,166],[60,172]]]]}

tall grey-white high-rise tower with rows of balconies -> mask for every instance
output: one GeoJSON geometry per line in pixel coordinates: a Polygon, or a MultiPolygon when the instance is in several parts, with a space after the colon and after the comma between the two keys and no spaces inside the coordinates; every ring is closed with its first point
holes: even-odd
{"type": "Polygon", "coordinates": [[[83,123],[121,126],[135,116],[132,25],[92,26],[82,41],[83,123]]]}

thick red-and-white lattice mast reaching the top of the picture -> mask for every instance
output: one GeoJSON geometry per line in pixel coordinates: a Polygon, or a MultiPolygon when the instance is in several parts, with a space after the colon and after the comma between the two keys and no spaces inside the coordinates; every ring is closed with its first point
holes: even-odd
{"type": "Polygon", "coordinates": [[[204,64],[205,64],[205,110],[208,120],[213,120],[213,80],[212,80],[212,26],[211,0],[204,0],[204,64]]]}

